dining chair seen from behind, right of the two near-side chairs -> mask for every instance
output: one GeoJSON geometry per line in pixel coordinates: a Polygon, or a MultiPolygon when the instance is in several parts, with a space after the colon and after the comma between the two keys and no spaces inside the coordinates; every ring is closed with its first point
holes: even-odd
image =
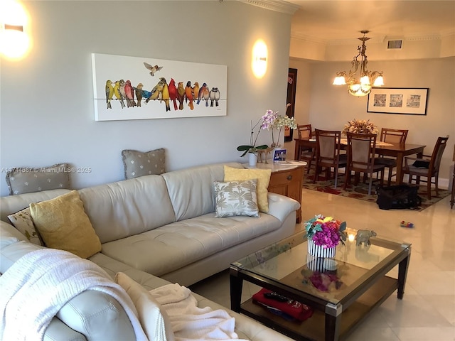
{"type": "Polygon", "coordinates": [[[384,165],[375,164],[376,134],[346,133],[348,138],[348,163],[346,164],[346,180],[343,189],[350,184],[350,173],[368,175],[368,195],[371,194],[373,173],[380,173],[380,184],[384,183],[384,165]]]}

